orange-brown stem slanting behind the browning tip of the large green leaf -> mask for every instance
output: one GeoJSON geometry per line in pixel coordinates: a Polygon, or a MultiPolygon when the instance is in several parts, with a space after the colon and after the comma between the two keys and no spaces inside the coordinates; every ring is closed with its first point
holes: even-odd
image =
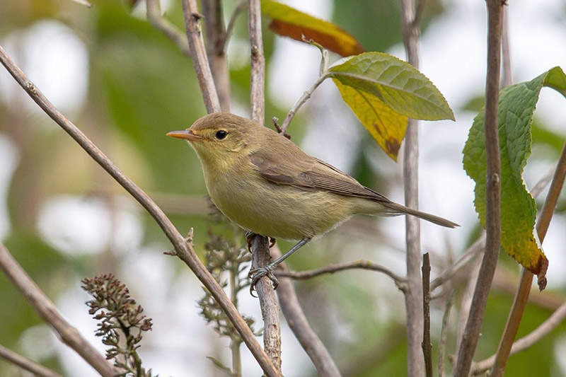
{"type": "MultiPolygon", "coordinates": [[[[548,195],[544,202],[541,216],[538,218],[536,223],[536,231],[538,232],[538,239],[541,240],[541,243],[543,243],[546,232],[548,231],[550,219],[553,217],[554,209],[558,202],[558,197],[560,196],[560,191],[562,191],[562,185],[564,185],[565,175],[566,143],[562,146],[562,153],[560,153],[560,158],[558,160],[558,168],[556,169],[553,182],[550,184],[550,190],[548,191],[548,195]]],[[[505,365],[509,359],[513,340],[516,337],[517,330],[519,330],[519,324],[521,323],[521,318],[523,317],[526,303],[529,299],[529,294],[531,293],[532,283],[533,273],[523,268],[519,286],[517,287],[513,301],[513,306],[509,312],[509,318],[507,318],[507,323],[505,324],[505,329],[501,340],[499,341],[497,353],[495,354],[495,363],[493,364],[493,370],[491,373],[491,376],[493,377],[500,377],[503,375],[505,365]]],[[[539,284],[543,283],[539,282],[539,284]]]]}

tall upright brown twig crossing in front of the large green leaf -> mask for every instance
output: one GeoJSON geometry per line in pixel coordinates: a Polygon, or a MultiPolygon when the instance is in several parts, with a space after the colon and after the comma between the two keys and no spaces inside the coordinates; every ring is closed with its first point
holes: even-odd
{"type": "Polygon", "coordinates": [[[485,304],[499,257],[501,175],[497,134],[497,100],[501,65],[501,14],[502,1],[487,0],[487,79],[485,83],[485,153],[487,158],[485,222],[487,236],[480,275],[475,285],[472,307],[460,344],[454,376],[468,376],[470,373],[473,354],[480,337],[485,304]]]}

